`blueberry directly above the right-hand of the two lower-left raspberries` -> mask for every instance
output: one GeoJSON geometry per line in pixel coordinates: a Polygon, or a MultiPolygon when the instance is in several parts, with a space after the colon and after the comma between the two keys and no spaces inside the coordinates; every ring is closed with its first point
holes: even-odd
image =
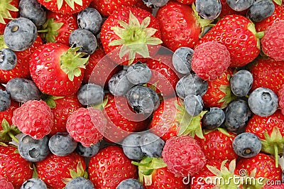
{"type": "Polygon", "coordinates": [[[104,88],[93,83],[87,83],[80,87],[77,97],[79,102],[85,106],[100,104],[104,99],[104,88]]]}

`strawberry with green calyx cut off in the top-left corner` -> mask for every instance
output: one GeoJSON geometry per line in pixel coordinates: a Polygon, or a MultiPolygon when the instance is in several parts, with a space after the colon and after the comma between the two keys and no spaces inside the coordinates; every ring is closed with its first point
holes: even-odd
{"type": "Polygon", "coordinates": [[[6,24],[18,18],[18,0],[0,1],[0,35],[3,35],[6,24]]]}

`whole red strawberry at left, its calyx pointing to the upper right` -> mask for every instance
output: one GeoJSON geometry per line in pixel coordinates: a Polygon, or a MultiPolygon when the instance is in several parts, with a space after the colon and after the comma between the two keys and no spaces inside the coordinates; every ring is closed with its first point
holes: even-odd
{"type": "Polygon", "coordinates": [[[45,43],[31,55],[30,72],[41,92],[57,97],[74,95],[84,77],[88,57],[77,53],[80,47],[45,43]]]}

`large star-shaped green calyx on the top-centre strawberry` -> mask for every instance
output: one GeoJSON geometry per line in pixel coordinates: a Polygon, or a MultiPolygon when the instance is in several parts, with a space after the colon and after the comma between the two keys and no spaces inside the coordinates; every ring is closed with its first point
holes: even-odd
{"type": "Polygon", "coordinates": [[[109,45],[121,45],[119,51],[119,58],[129,53],[129,65],[133,63],[136,53],[148,58],[149,50],[148,45],[158,45],[163,43],[160,38],[152,37],[157,31],[155,28],[147,28],[151,22],[150,17],[146,17],[142,23],[139,23],[136,16],[129,12],[129,23],[125,21],[118,21],[119,26],[111,27],[114,33],[119,36],[120,39],[111,41],[109,45]]]}

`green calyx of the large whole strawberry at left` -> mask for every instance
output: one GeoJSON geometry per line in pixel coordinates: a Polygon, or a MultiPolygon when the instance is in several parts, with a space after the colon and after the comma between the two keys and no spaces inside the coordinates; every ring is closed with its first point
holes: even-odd
{"type": "Polygon", "coordinates": [[[60,68],[68,75],[70,81],[74,80],[74,77],[81,75],[81,68],[85,69],[89,60],[89,55],[84,58],[87,53],[80,53],[78,50],[80,46],[75,48],[69,48],[65,53],[60,55],[60,68]]]}

